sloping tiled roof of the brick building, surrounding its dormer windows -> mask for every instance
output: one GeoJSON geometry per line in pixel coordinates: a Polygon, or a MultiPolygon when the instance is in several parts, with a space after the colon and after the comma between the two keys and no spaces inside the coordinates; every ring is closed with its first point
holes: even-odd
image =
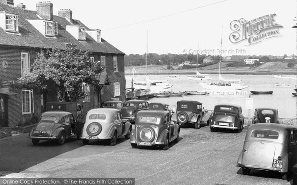
{"type": "MultiPolygon", "coordinates": [[[[91,52],[124,54],[106,40],[101,38],[101,43],[98,43],[91,36],[86,33],[86,40],[79,41],[66,31],[66,25],[71,25],[65,18],[54,15],[53,21],[58,23],[58,35],[56,38],[47,38],[43,36],[34,26],[32,26],[28,19],[40,19],[36,15],[36,11],[20,9],[6,4],[0,3],[0,11],[5,11],[18,15],[19,35],[6,33],[0,28],[0,45],[24,46],[36,48],[60,48],[65,49],[66,43],[72,42],[77,44],[78,48],[82,50],[89,50],[91,52]]],[[[82,24],[79,20],[73,20],[73,24],[83,26],[88,30],[89,28],[82,24]]]]}

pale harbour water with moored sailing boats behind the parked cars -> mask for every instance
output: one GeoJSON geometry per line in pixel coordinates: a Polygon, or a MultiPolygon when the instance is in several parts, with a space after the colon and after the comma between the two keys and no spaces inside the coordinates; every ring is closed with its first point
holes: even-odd
{"type": "MultiPolygon", "coordinates": [[[[211,81],[218,80],[217,74],[210,74],[211,81]]],[[[151,80],[164,80],[166,75],[148,75],[151,80]]],[[[172,91],[202,91],[200,81],[189,80],[187,75],[180,75],[181,79],[172,79],[169,82],[173,85],[168,90],[172,91]]],[[[237,91],[213,91],[207,90],[209,95],[184,95],[182,97],[151,98],[151,102],[162,102],[169,104],[170,109],[176,109],[176,102],[180,100],[195,100],[202,103],[205,109],[213,110],[216,104],[228,103],[242,106],[243,114],[248,117],[246,109],[246,98],[250,91],[273,91],[271,95],[253,95],[253,109],[250,110],[252,116],[255,108],[275,108],[278,109],[280,118],[297,118],[297,97],[292,95],[295,92],[296,80],[290,78],[274,78],[273,75],[237,75],[223,74],[226,79],[241,79],[248,87],[237,91]],[[290,86],[276,86],[276,83],[290,84],[290,86]]],[[[131,77],[126,76],[126,87],[131,87],[131,77]]],[[[145,75],[137,75],[136,80],[144,80],[145,75]]]]}

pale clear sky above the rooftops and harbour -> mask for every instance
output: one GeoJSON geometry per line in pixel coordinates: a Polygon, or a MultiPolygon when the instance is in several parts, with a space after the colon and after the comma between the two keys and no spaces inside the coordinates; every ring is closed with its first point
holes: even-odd
{"type": "MultiPolygon", "coordinates": [[[[36,11],[41,0],[14,0],[36,11]]],[[[126,54],[292,55],[297,53],[297,0],[50,0],[53,14],[69,8],[73,18],[126,54]],[[276,14],[264,38],[230,41],[230,23],[276,14]],[[221,37],[222,35],[222,37],[221,37]],[[272,37],[278,36],[278,37],[272,37]],[[222,47],[220,41],[222,39],[222,47]],[[148,46],[148,47],[147,47],[148,46]],[[222,48],[222,49],[221,49],[222,48]]],[[[258,19],[259,18],[259,19],[258,19]]],[[[265,19],[265,18],[264,18],[265,19]]],[[[257,22],[257,21],[256,21],[257,22]]],[[[251,22],[254,24],[255,22],[251,22]]],[[[265,31],[265,30],[264,30],[265,31]]],[[[243,35],[242,32],[237,32],[243,35]]],[[[263,32],[262,32],[263,33],[263,32]]],[[[261,34],[260,34],[261,35],[261,34]]],[[[259,36],[258,36],[259,37],[259,36]]]]}

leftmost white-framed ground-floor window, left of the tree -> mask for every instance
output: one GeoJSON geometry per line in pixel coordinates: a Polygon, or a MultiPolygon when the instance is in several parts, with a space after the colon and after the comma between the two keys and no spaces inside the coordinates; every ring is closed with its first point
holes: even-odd
{"type": "Polygon", "coordinates": [[[33,89],[22,89],[22,114],[34,112],[33,89]]]}

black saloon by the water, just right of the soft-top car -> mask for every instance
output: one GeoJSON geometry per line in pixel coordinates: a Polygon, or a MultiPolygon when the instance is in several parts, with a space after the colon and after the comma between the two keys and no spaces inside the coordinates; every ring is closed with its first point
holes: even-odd
{"type": "Polygon", "coordinates": [[[216,128],[226,128],[241,132],[244,128],[244,123],[245,117],[240,106],[220,104],[214,106],[209,125],[211,132],[215,131],[216,128]]]}

